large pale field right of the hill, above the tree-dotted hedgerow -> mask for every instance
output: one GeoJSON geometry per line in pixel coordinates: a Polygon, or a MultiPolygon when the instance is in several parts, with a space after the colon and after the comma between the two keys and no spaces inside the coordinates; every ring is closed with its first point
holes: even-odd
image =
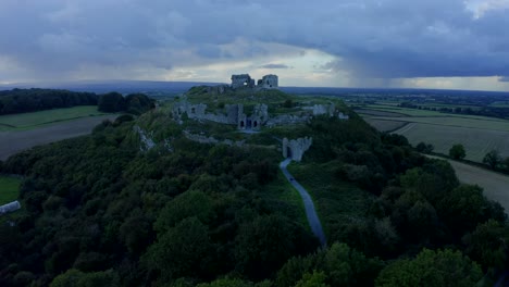
{"type": "Polygon", "coordinates": [[[468,160],[482,162],[493,149],[509,157],[509,121],[506,120],[380,104],[358,112],[376,129],[404,135],[413,146],[421,141],[432,144],[435,152],[448,154],[452,145],[461,144],[468,160]]]}

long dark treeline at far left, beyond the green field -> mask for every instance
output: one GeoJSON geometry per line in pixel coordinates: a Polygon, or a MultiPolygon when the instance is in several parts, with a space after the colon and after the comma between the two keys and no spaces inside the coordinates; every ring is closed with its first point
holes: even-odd
{"type": "Polygon", "coordinates": [[[13,89],[0,91],[0,114],[27,113],[76,105],[97,105],[99,96],[53,89],[13,89]]]}

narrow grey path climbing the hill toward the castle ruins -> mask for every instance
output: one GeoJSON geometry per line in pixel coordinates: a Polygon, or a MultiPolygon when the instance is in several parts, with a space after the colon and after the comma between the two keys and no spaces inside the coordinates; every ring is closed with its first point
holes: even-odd
{"type": "Polygon", "coordinates": [[[286,166],[288,166],[290,162],[290,159],[282,161],[280,163],[280,169],[285,175],[288,183],[290,183],[295,187],[295,189],[299,191],[299,195],[305,203],[306,216],[308,217],[309,226],[311,226],[311,232],[314,234],[314,236],[319,238],[322,247],[325,247],[327,241],[325,239],[325,234],[323,233],[320,219],[318,217],[316,211],[314,210],[313,200],[311,199],[311,196],[308,194],[308,191],[299,183],[297,183],[297,180],[295,180],[294,176],[291,176],[291,174],[286,169],[286,166]]]}

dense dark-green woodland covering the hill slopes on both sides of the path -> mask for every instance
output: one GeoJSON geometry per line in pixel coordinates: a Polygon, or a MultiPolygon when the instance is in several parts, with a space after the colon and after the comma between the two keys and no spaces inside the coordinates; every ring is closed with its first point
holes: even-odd
{"type": "Polygon", "coordinates": [[[150,112],[136,124],[164,145],[140,152],[134,124],[104,122],[3,163],[26,177],[26,212],[0,226],[0,285],[474,286],[508,266],[498,203],[355,114],[303,127],[306,161],[375,198],[364,219],[328,226],[319,250],[264,194],[276,150],[199,145],[150,112]]]}

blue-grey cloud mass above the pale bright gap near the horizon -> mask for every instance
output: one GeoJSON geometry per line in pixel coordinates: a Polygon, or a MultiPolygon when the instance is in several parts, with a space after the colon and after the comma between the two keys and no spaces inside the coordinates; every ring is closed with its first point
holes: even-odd
{"type": "Polygon", "coordinates": [[[243,60],[277,42],[336,55],[328,68],[359,77],[509,76],[507,14],[474,18],[463,0],[5,0],[0,59],[59,77],[243,60]],[[252,45],[225,48],[239,39],[252,45]]]}

